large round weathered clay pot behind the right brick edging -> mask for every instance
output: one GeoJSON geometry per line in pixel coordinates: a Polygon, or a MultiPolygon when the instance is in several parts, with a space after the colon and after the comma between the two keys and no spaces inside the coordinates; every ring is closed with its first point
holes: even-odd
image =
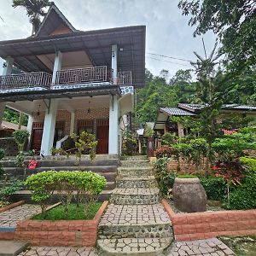
{"type": "Polygon", "coordinates": [[[206,190],[198,177],[176,177],[172,195],[174,206],[181,212],[205,212],[207,210],[206,190]]]}

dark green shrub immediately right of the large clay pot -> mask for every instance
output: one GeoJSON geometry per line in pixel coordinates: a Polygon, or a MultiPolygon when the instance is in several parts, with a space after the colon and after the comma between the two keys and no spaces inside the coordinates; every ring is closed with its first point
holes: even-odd
{"type": "Polygon", "coordinates": [[[207,199],[223,201],[227,184],[223,177],[201,177],[201,184],[207,192],[207,199]]]}

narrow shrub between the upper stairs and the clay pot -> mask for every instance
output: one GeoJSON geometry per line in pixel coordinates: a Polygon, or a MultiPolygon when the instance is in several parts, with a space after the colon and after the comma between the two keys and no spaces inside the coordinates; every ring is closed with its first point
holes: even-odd
{"type": "Polygon", "coordinates": [[[167,168],[168,158],[163,157],[154,162],[155,179],[163,195],[169,196],[172,190],[176,172],[170,172],[167,168]]]}

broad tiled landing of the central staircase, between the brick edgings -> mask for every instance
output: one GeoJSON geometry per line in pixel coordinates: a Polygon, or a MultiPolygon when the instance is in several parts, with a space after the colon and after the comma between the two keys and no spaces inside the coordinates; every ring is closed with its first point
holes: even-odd
{"type": "Polygon", "coordinates": [[[169,223],[170,219],[161,204],[120,206],[110,204],[102,216],[104,224],[156,224],[169,223]]]}

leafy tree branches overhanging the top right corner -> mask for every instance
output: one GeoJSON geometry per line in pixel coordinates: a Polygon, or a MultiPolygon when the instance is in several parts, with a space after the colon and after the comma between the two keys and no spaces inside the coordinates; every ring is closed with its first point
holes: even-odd
{"type": "Polygon", "coordinates": [[[220,53],[227,56],[234,70],[256,62],[256,2],[255,0],[181,0],[178,8],[191,15],[190,26],[196,26],[194,36],[212,31],[222,44],[220,53]]]}

